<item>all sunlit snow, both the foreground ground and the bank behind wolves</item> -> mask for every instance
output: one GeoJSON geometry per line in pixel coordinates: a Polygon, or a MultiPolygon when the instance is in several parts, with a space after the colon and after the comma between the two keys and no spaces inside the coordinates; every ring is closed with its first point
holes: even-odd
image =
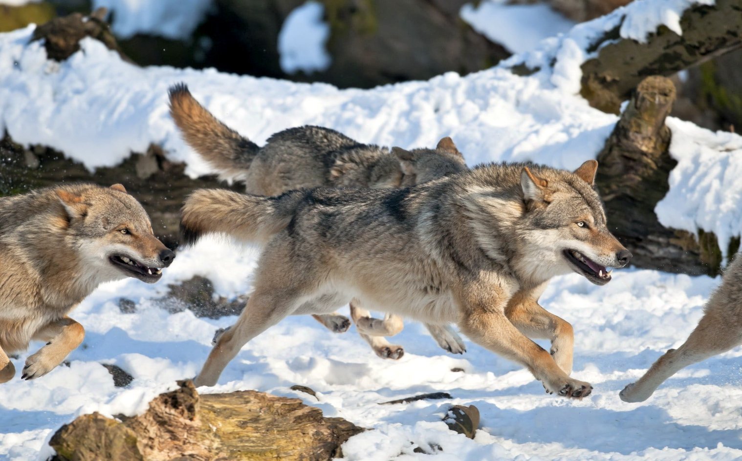
{"type": "MultiPolygon", "coordinates": [[[[16,142],[62,150],[88,168],[115,165],[156,143],[171,159],[187,162],[188,173],[206,173],[167,113],[167,87],[186,82],[217,117],[258,143],[278,130],[315,124],[361,142],[401,147],[432,146],[452,136],[470,165],[533,160],[575,168],[596,156],[617,120],[576,96],[588,44],[616,24],[623,24],[623,36],[637,39],[657,24],[679,27],[679,12],[692,3],[636,1],[499,67],[372,90],[139,68],[92,40],[59,64],[47,61],[38,43],[27,43],[29,27],[0,34],[0,130],[16,142]],[[544,65],[552,59],[553,69],[544,65]],[[516,77],[507,68],[515,62],[542,70],[516,77]]],[[[674,119],[669,126],[679,163],[658,216],[676,228],[714,230],[724,242],[742,223],[742,182],[736,180],[742,137],[674,119]]],[[[76,415],[142,411],[175,379],[194,376],[214,329],[234,318],[169,314],[156,299],[168,283],[194,274],[209,276],[221,295],[236,296],[249,291],[254,266],[254,251],[208,240],[180,253],[157,285],[128,280],[99,288],[72,314],[88,334],[70,355],[70,367],[0,386],[0,459],[45,459],[47,439],[76,415]],[[133,299],[137,312],[122,313],[121,297],[133,299]],[[134,382],[114,388],[99,365],[104,362],[124,368],[134,382]]],[[[331,334],[309,317],[286,319],[252,341],[208,391],[255,388],[300,397],[328,416],[375,428],[344,446],[347,460],[412,460],[426,456],[413,449],[427,443],[443,448],[436,454],[441,460],[735,460],[742,457],[741,351],[681,371],[648,402],[618,398],[657,356],[683,342],[717,283],[638,270],[618,271],[602,288],[576,275],[554,279],[542,305],[574,325],[574,375],[595,386],[580,402],[544,394],[527,371],[471,343],[464,356],[450,356],[420,325],[408,323],[395,338],[406,354],[390,362],[373,355],[354,329],[331,334]],[[294,384],[318,391],[320,402],[290,391],[294,384]],[[447,431],[440,421],[452,402],[377,405],[430,391],[448,391],[453,403],[479,407],[482,431],[475,440],[447,431]]],[[[26,356],[16,359],[16,368],[26,356]]]]}

